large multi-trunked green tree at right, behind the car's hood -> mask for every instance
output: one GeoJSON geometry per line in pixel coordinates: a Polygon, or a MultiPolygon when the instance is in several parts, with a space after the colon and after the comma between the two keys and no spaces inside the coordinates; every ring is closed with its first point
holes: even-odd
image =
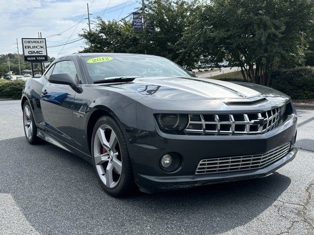
{"type": "Polygon", "coordinates": [[[301,62],[301,31],[313,23],[313,0],[212,0],[195,18],[204,54],[227,56],[246,81],[269,85],[278,66],[301,62]]]}

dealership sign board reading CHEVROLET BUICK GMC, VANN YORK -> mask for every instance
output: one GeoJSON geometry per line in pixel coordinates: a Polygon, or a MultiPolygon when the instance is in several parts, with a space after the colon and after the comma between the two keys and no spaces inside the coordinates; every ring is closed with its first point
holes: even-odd
{"type": "Polygon", "coordinates": [[[48,60],[45,38],[22,38],[24,60],[40,63],[48,60]]]}

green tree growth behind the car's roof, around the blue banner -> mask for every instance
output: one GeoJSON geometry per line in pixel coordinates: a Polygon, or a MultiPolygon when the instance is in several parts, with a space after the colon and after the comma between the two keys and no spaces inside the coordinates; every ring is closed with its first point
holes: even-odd
{"type": "MultiPolygon", "coordinates": [[[[196,1],[195,1],[196,2],[196,1]]],[[[135,32],[132,21],[98,22],[91,32],[80,35],[87,47],[81,52],[148,53],[166,57],[182,66],[193,67],[199,57],[183,40],[195,4],[187,0],[150,0],[146,18],[155,26],[149,32],[135,32]]],[[[140,10],[140,9],[138,9],[140,10]]]]}

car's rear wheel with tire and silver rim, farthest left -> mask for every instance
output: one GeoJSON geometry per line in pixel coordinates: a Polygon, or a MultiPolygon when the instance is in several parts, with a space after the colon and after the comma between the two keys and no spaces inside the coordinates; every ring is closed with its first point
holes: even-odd
{"type": "Polygon", "coordinates": [[[25,101],[23,105],[23,125],[26,140],[30,144],[38,144],[42,142],[42,139],[37,136],[37,127],[28,101],[25,101]]]}

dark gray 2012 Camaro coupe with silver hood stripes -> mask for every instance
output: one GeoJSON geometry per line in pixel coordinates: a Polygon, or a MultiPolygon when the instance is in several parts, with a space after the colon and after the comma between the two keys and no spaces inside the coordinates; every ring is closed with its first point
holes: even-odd
{"type": "Polygon", "coordinates": [[[29,143],[86,159],[113,196],[262,177],[297,152],[287,95],[151,55],[58,58],[27,79],[22,108],[29,143]]]}

